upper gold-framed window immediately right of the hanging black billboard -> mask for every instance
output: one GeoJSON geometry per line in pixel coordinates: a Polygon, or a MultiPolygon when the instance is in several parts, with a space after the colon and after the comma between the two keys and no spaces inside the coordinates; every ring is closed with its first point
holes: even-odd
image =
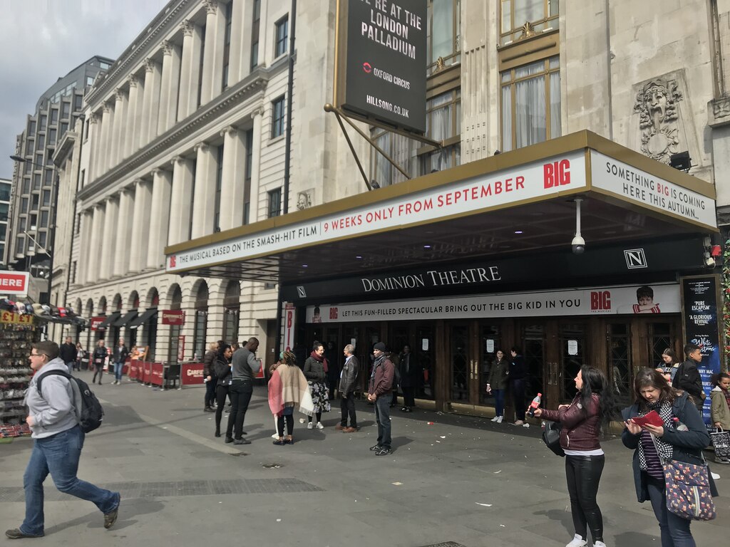
{"type": "Polygon", "coordinates": [[[461,61],[461,0],[430,0],[428,18],[426,42],[432,74],[461,61]]]}

